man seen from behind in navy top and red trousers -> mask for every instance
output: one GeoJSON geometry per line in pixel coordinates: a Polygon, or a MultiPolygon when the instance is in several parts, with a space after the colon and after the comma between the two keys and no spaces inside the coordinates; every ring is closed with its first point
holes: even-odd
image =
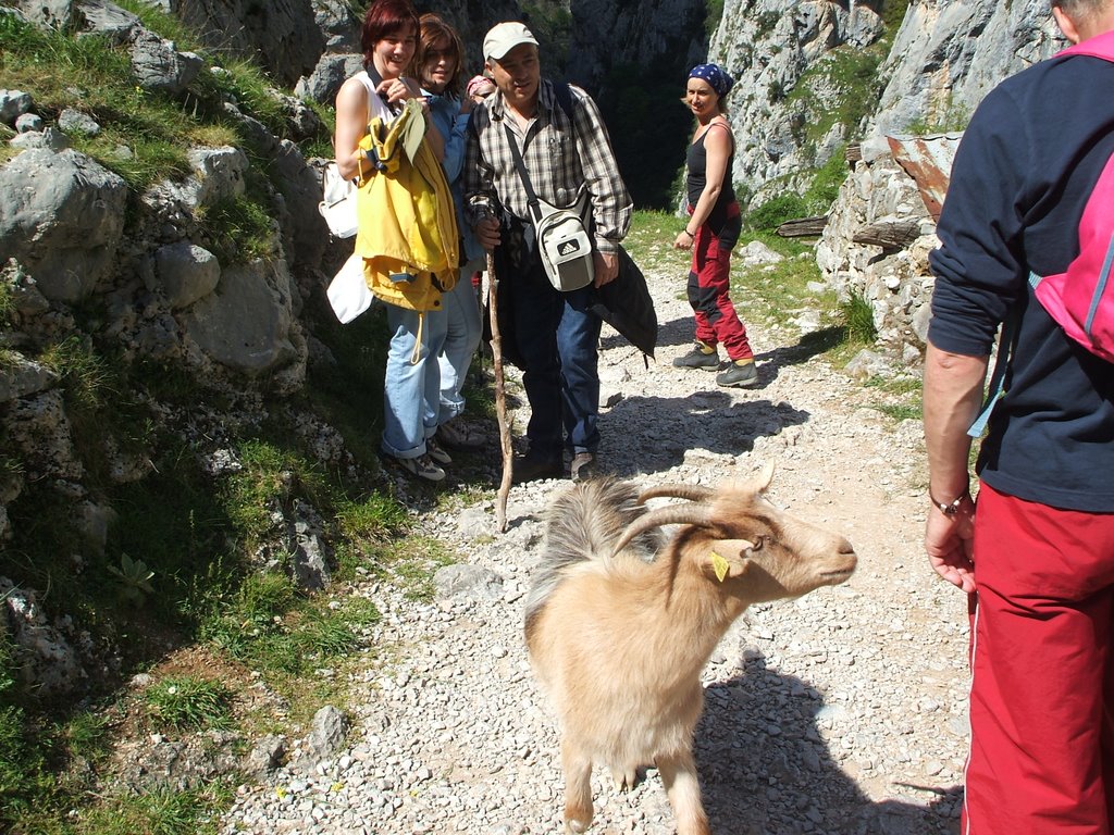
{"type": "Polygon", "coordinates": [[[1114,0],[1052,7],[1068,40],[1110,60],[1057,56],[986,97],[930,256],[925,546],[969,595],[965,835],[1114,825],[1114,364],[1072,341],[1028,282],[1078,254],[1083,207],[1114,155],[1114,0]],[[1017,338],[976,507],[967,431],[1006,320],[1017,338]]]}

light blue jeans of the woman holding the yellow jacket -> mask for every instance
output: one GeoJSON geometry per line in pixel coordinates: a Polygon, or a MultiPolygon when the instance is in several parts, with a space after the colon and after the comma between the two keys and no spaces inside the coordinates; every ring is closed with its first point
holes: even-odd
{"type": "Polygon", "coordinates": [[[437,357],[448,317],[443,310],[419,314],[393,304],[384,306],[392,335],[383,379],[382,449],[394,458],[418,458],[426,454],[426,439],[437,431],[441,402],[437,357]]]}

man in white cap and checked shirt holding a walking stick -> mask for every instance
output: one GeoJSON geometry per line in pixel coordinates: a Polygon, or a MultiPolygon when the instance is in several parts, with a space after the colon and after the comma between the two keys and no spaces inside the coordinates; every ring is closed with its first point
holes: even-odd
{"type": "Polygon", "coordinates": [[[505,343],[511,343],[511,358],[522,367],[530,402],[529,451],[516,462],[515,478],[563,475],[567,449],[571,478],[579,480],[598,463],[602,321],[590,310],[593,286],[614,281],[618,272],[631,196],[596,104],[578,87],[541,78],[538,41],[529,29],[518,22],[492,27],[483,39],[483,60],[498,90],[472,111],[465,202],[480,243],[495,249],[500,310],[508,306],[505,291],[512,323],[505,343]],[[563,293],[546,277],[507,129],[539,199],[568,207],[587,190],[594,285],[563,293]]]}

